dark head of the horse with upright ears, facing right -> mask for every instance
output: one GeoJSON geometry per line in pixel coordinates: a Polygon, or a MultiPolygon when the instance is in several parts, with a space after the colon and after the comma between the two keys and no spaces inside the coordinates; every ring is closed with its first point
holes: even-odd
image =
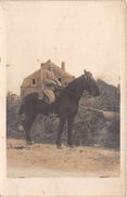
{"type": "Polygon", "coordinates": [[[96,79],[90,71],[84,70],[84,88],[93,96],[99,96],[100,91],[96,79]]]}

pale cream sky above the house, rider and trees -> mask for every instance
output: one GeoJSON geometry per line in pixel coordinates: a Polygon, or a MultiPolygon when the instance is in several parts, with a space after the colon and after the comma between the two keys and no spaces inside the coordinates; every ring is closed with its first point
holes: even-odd
{"type": "Polygon", "coordinates": [[[12,1],[5,12],[8,91],[20,94],[39,62],[65,62],[76,77],[84,69],[117,86],[124,55],[122,1],[12,1]]]}

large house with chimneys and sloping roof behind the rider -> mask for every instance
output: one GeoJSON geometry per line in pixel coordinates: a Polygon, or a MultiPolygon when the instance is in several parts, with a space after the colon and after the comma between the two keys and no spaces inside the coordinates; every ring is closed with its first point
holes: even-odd
{"type": "Polygon", "coordinates": [[[52,67],[52,70],[54,75],[58,77],[58,79],[61,81],[63,86],[68,84],[71,81],[75,79],[74,76],[68,74],[65,70],[65,63],[61,63],[61,67],[56,66],[54,63],[52,63],[50,60],[46,63],[40,64],[40,69],[36,70],[28,77],[26,77],[21,86],[21,96],[24,97],[25,95],[31,93],[31,92],[39,92],[41,89],[41,69],[47,68],[48,64],[50,62],[50,65],[52,67]]]}

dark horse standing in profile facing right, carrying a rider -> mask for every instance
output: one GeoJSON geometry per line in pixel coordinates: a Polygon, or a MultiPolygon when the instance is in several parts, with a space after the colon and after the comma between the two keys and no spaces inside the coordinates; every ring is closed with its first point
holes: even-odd
{"type": "Polygon", "coordinates": [[[25,115],[25,119],[23,120],[22,124],[26,133],[27,144],[31,144],[30,129],[37,115],[42,114],[48,116],[51,113],[55,113],[60,118],[56,147],[62,147],[61,135],[63,133],[65,122],[67,122],[67,145],[73,147],[72,130],[74,119],[78,110],[79,100],[85,90],[92,96],[100,95],[96,79],[92,77],[90,71],[86,70],[84,70],[81,76],[75,78],[62,89],[54,103],[47,104],[46,102],[38,100],[38,93],[30,93],[24,96],[18,113],[20,115],[25,115]]]}

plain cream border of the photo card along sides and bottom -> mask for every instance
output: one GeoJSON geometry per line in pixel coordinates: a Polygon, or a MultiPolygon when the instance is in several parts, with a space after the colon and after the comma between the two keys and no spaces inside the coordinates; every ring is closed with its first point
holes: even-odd
{"type": "MultiPolygon", "coordinates": [[[[123,1],[125,2],[125,1],[123,1]]],[[[0,9],[1,11],[1,9],[0,9]]],[[[126,5],[125,5],[126,12],[126,5]]],[[[1,18],[4,18],[4,11],[1,18]]],[[[1,19],[0,18],[0,19],[1,19]]],[[[125,18],[125,24],[126,24],[125,18]]],[[[1,21],[0,21],[1,22],[1,21]]],[[[2,21],[3,30],[5,24],[2,21]]],[[[0,35],[5,45],[5,37],[0,35]]],[[[45,179],[8,179],[5,167],[5,48],[2,49],[0,63],[0,194],[1,196],[126,196],[125,154],[127,144],[127,66],[126,38],[125,53],[122,56],[122,113],[120,113],[120,176],[119,178],[45,178],[45,179]],[[2,89],[1,89],[2,88],[2,89]],[[1,96],[2,95],[2,96],[1,96]]]]}

